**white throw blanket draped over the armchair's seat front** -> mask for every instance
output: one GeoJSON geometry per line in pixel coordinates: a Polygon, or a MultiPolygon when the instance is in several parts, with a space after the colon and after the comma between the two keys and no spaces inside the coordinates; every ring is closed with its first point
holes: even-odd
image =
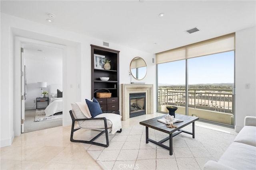
{"type": "Polygon", "coordinates": [[[99,115],[96,115],[96,117],[106,117],[106,119],[110,120],[112,122],[112,134],[115,134],[116,131],[119,131],[122,128],[121,124],[121,117],[120,115],[114,114],[114,113],[102,113],[99,115]]]}

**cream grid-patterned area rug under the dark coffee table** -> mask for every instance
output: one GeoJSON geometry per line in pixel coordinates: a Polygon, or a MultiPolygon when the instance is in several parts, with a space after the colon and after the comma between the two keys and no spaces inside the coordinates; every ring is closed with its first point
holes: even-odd
{"type": "MultiPolygon", "coordinates": [[[[192,125],[183,128],[192,131],[192,125]]],[[[146,144],[142,125],[123,128],[122,133],[109,133],[109,147],[83,144],[104,170],[200,170],[208,160],[217,161],[236,135],[195,127],[192,135],[180,133],[173,138],[173,155],[153,143],[146,144]]],[[[149,128],[149,138],[160,141],[168,134],[149,128]]],[[[96,141],[103,142],[105,136],[96,141]]],[[[169,141],[163,143],[168,146],[169,141]]]]}

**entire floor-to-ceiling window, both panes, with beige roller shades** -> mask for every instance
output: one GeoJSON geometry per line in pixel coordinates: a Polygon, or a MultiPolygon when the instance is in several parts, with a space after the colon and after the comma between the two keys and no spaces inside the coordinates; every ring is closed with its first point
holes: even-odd
{"type": "MultiPolygon", "coordinates": [[[[220,38],[220,42],[224,39],[225,37],[220,38]]],[[[215,45],[218,40],[214,39],[213,44],[215,45]]],[[[234,44],[228,37],[228,43],[230,42],[228,50],[221,49],[222,46],[219,45],[216,53],[214,47],[202,47],[202,52],[199,49],[197,56],[197,51],[193,48],[204,45],[200,42],[199,45],[158,55],[157,57],[161,57],[157,58],[158,111],[168,113],[166,106],[176,106],[176,113],[233,126],[234,44]],[[168,59],[168,55],[172,58],[168,59]]],[[[208,44],[209,42],[206,46],[208,44]]]]}

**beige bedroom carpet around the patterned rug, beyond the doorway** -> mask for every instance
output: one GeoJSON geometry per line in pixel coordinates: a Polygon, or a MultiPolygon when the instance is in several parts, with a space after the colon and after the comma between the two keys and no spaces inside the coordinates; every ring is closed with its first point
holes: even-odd
{"type": "Polygon", "coordinates": [[[24,133],[62,126],[62,119],[35,122],[36,109],[25,110],[24,133]]]}

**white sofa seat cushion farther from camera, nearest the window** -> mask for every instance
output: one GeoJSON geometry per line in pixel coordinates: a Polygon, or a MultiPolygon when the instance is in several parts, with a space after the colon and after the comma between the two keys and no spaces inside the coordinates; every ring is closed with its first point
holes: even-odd
{"type": "Polygon", "coordinates": [[[234,139],[234,142],[256,147],[256,126],[244,126],[234,139]]]}

